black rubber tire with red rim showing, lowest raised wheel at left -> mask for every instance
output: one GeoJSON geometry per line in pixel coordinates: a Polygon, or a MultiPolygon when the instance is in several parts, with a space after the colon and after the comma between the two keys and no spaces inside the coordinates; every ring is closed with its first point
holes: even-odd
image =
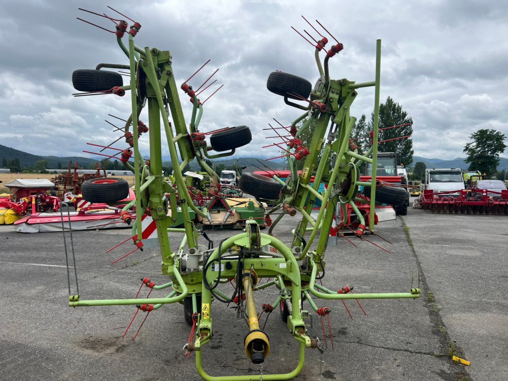
{"type": "Polygon", "coordinates": [[[89,179],[81,184],[81,194],[88,202],[117,202],[129,196],[129,183],[114,177],[89,179]]]}

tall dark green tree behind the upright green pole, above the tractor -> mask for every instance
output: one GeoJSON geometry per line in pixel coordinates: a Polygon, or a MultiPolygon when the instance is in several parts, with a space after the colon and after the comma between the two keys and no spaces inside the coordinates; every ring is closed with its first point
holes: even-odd
{"type": "MultiPolygon", "coordinates": [[[[397,127],[389,130],[379,131],[378,141],[400,138],[412,135],[412,118],[407,116],[407,112],[402,110],[402,106],[394,102],[390,97],[385,103],[379,105],[379,129],[392,127],[394,125],[408,124],[403,127],[397,127]]],[[[369,130],[374,129],[374,112],[372,111],[369,130]]],[[[397,165],[404,164],[409,167],[413,161],[412,139],[397,139],[385,143],[379,143],[378,152],[395,152],[397,154],[397,165]]]]}

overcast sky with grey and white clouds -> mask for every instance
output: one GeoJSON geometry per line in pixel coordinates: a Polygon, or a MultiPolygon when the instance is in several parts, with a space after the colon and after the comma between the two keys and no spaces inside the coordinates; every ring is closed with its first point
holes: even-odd
{"type": "MultiPolygon", "coordinates": [[[[119,136],[104,120],[115,122],[108,113],[129,116],[130,93],[71,95],[74,70],[129,63],[113,34],[76,19],[113,29],[111,21],[78,11],[116,17],[101,3],[0,0],[0,144],[40,155],[86,155],[86,142],[108,144],[119,136]]],[[[344,44],[330,60],[335,79],[374,80],[375,42],[382,39],[381,100],[392,97],[414,120],[415,155],[464,156],[468,136],[478,129],[508,135],[506,0],[107,4],[142,24],[137,45],[171,51],[178,85],[211,58],[189,82],[199,86],[220,69],[216,84],[224,87],[205,104],[201,130],[248,125],[253,139],[237,150],[242,156],[277,154],[261,150],[269,136],[262,129],[273,117],[289,124],[301,113],[266,89],[268,75],[281,70],[312,84],[318,77],[314,49],[291,29],[311,31],[300,15],[317,18],[344,44]]],[[[352,115],[370,117],[373,93],[359,89],[352,115]]],[[[180,99],[188,123],[191,105],[181,91],[180,99]]],[[[121,141],[115,146],[125,148],[121,141]]]]}

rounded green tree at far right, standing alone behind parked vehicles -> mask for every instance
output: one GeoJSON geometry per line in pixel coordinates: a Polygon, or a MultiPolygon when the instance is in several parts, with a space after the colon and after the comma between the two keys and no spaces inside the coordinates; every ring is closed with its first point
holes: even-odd
{"type": "Polygon", "coordinates": [[[504,152],[506,135],[496,130],[481,129],[471,134],[472,142],[464,146],[467,154],[465,160],[469,163],[469,170],[486,173],[488,177],[497,172],[499,154],[504,152]]]}

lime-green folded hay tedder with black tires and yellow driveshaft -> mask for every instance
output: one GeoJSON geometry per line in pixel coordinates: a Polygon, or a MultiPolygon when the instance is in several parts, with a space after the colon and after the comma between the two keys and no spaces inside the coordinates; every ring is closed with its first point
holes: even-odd
{"type": "MultiPolygon", "coordinates": [[[[131,90],[132,113],[126,119],[123,129],[125,141],[129,147],[121,150],[121,157],[117,158],[126,168],[135,173],[136,200],[126,205],[124,210],[135,206],[133,240],[137,247],[143,246],[142,217],[149,213],[155,221],[162,257],[162,273],[168,275],[170,279],[163,285],[154,285],[148,278],[145,278],[143,283],[152,290],[168,288],[171,292],[166,297],[160,298],[104,300],[82,300],[79,295],[72,295],[70,292],[69,305],[71,307],[135,305],[137,311],[148,313],[164,304],[183,303],[185,320],[193,326],[194,332],[193,339],[186,345],[186,349],[189,352],[195,352],[196,367],[204,379],[281,380],[290,379],[299,374],[304,365],[306,348],[321,350],[319,340],[311,339],[307,335],[303,316],[308,312],[302,311],[302,300],[308,300],[311,307],[323,316],[329,312],[329,309],[317,308],[312,300],[313,297],[344,301],[345,299],[414,299],[420,296],[419,288],[412,288],[406,293],[353,295],[350,288],[335,292],[316,283],[316,279],[323,277],[318,274],[324,273],[325,270],[325,251],[336,206],[345,208],[351,205],[355,209],[355,201],[362,200],[361,202],[370,203],[370,215],[374,215],[375,186],[371,185],[375,183],[375,173],[371,181],[361,182],[358,167],[363,162],[372,163],[373,167],[376,167],[380,40],[376,45],[375,81],[355,83],[347,79],[332,79],[329,73],[329,60],[343,49],[343,45],[335,40],[336,44],[327,50],[325,46],[328,39],[321,34],[320,40],[315,41],[315,44],[307,40],[315,49],[315,60],[319,72],[319,79],[313,88],[307,80],[291,74],[282,72],[270,74],[268,89],[282,96],[286,104],[303,111],[303,114],[286,128],[291,137],[283,139],[283,144],[280,144],[287,146],[284,150],[288,152],[292,173],[285,181],[275,175],[273,178],[261,178],[244,173],[240,177],[239,186],[245,193],[274,205],[266,214],[267,225],[270,225],[268,223],[271,221],[270,214],[279,215],[271,224],[269,234],[260,232],[256,219],[249,219],[246,221],[243,233],[224,239],[214,248],[211,244],[206,246],[200,242],[202,231],[196,228],[190,213],[208,220],[211,216],[206,207],[193,202],[182,177],[182,169],[191,161],[197,160],[211,178],[212,192],[220,194],[219,178],[206,164],[205,158],[234,154],[236,148],[250,142],[250,130],[240,126],[213,133],[201,131],[200,121],[206,100],[202,102],[198,95],[208,86],[202,89],[205,81],[198,89],[194,89],[187,83],[194,75],[180,86],[193,104],[190,123],[187,125],[177,93],[178,87],[175,83],[171,53],[168,50],[159,50],[154,47],[141,48],[136,45],[135,40],[141,28],[139,22],[128,18],[132,21],[132,25],[128,26],[128,22],[123,19],[114,19],[106,14],[90,13],[115,22],[116,30],[110,31],[116,35],[118,45],[127,56],[129,65],[100,64],[96,70],[75,71],[73,73],[74,87],[82,91],[76,95],[113,93],[123,96],[126,91],[131,90]],[[124,44],[122,40],[124,35],[128,37],[128,44],[124,44]],[[323,62],[320,57],[321,52],[325,53],[323,62]],[[130,83],[123,85],[118,73],[102,70],[103,68],[128,69],[130,83]],[[371,150],[361,154],[356,144],[350,140],[355,123],[355,118],[350,116],[350,107],[358,95],[357,90],[369,86],[375,88],[375,134],[371,150]],[[149,129],[139,120],[144,107],[148,109],[149,129]],[[161,120],[175,169],[176,190],[163,177],[161,147],[164,140],[161,136],[161,120]],[[297,128],[297,123],[301,121],[304,121],[303,124],[297,128]],[[131,125],[134,129],[132,132],[131,125]],[[315,125],[315,132],[310,146],[304,147],[300,136],[311,125],[315,125]],[[139,151],[138,140],[142,133],[149,135],[149,161],[143,160],[139,151]],[[209,143],[207,143],[208,135],[210,135],[209,143]],[[323,144],[322,158],[318,162],[318,153],[323,144]],[[211,154],[212,150],[218,153],[211,154]],[[131,155],[134,156],[134,162],[130,161],[131,155]],[[296,167],[296,162],[299,160],[304,161],[301,173],[296,167]],[[310,185],[312,175],[314,181],[310,185]],[[322,193],[317,190],[320,183],[326,186],[326,190],[322,193]],[[358,187],[362,185],[371,186],[370,201],[357,197],[358,187]],[[316,199],[321,201],[321,207],[317,217],[314,218],[311,216],[311,210],[316,199]],[[283,213],[276,213],[277,210],[283,213]],[[179,229],[173,227],[178,211],[183,215],[184,226],[179,229]],[[303,217],[296,224],[292,243],[286,245],[275,237],[274,227],[282,215],[295,216],[297,211],[303,217]],[[181,234],[183,238],[175,251],[170,247],[169,235],[176,234],[181,234]],[[314,244],[316,238],[317,245],[314,244]],[[259,281],[261,278],[272,280],[261,284],[259,281]],[[234,285],[232,295],[226,295],[217,288],[220,283],[228,281],[234,285]],[[244,339],[245,354],[252,363],[260,364],[266,361],[270,354],[270,340],[259,323],[259,299],[255,291],[269,287],[277,290],[278,297],[274,305],[264,304],[262,310],[271,312],[280,303],[284,320],[287,320],[288,330],[299,343],[299,361],[296,368],[290,373],[282,374],[234,374],[220,377],[209,375],[202,367],[202,350],[212,340],[212,312],[214,308],[217,308],[218,302],[236,304],[237,316],[238,311],[242,311],[242,315],[248,322],[248,331],[244,339]]],[[[328,33],[321,23],[319,25],[328,33]]],[[[314,30],[317,32],[317,29],[314,28],[314,30]]],[[[118,192],[118,197],[123,196],[124,190],[119,189],[114,182],[102,182],[101,186],[104,194],[109,197],[109,201],[115,192],[118,192]]],[[[96,197],[98,195],[100,192],[95,194],[96,197]]],[[[84,197],[86,198],[85,195],[84,197]]],[[[120,198],[117,201],[119,200],[120,198]]],[[[367,230],[366,221],[361,213],[358,213],[358,218],[360,218],[360,224],[357,235],[361,236],[367,230]]],[[[372,230],[374,218],[369,218],[368,224],[372,230]]]]}

